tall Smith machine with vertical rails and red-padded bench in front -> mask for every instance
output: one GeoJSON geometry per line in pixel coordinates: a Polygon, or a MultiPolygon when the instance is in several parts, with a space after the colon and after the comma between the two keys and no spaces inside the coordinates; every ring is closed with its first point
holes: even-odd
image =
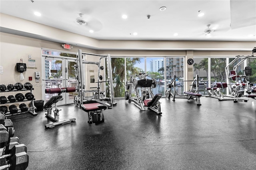
{"type": "MultiPolygon", "coordinates": [[[[76,55],[76,65],[73,67],[77,72],[76,79],[78,80],[76,91],[78,95],[74,97],[74,104],[79,106],[84,111],[88,113],[88,123],[98,124],[104,122],[104,115],[102,110],[105,110],[109,107],[116,105],[114,102],[114,89],[113,89],[113,79],[112,79],[112,69],[111,69],[111,60],[110,55],[98,55],[92,53],[82,53],[81,49],[78,49],[78,54],[76,55]],[[96,61],[86,61],[86,55],[93,55],[99,56],[100,59],[98,62],[96,61]],[[105,59],[106,61],[106,71],[108,79],[103,81],[103,76],[100,75],[100,71],[104,70],[104,66],[101,65],[102,60],[105,59]],[[85,84],[85,69],[83,64],[93,64],[98,66],[98,81],[94,82],[97,83],[97,90],[86,90],[85,84]],[[108,83],[108,90],[109,90],[109,98],[104,98],[104,93],[100,91],[100,83],[108,83]],[[94,93],[93,98],[86,98],[85,93],[94,93]]],[[[105,74],[104,74],[105,75],[105,74]]],[[[89,83],[89,82],[88,82],[89,83]]]]}

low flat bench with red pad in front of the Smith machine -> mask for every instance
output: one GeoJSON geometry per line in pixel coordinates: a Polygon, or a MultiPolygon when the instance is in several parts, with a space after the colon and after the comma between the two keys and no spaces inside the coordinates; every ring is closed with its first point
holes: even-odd
{"type": "Polygon", "coordinates": [[[100,103],[100,101],[91,99],[87,100],[84,104],[81,105],[81,108],[88,113],[88,123],[98,124],[104,122],[104,115],[102,110],[106,110],[110,105],[107,103],[100,103]]]}

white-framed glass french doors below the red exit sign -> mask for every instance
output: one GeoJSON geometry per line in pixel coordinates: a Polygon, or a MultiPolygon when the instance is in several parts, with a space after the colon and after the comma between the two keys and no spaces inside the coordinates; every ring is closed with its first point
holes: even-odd
{"type": "MultiPolygon", "coordinates": [[[[73,65],[76,64],[76,59],[62,58],[62,57],[49,57],[43,56],[42,62],[42,96],[44,101],[48,101],[52,96],[58,94],[46,94],[47,88],[62,88],[62,87],[76,87],[76,73],[73,65]]],[[[76,92],[62,93],[62,101],[57,105],[65,105],[74,102],[76,92]]]]}

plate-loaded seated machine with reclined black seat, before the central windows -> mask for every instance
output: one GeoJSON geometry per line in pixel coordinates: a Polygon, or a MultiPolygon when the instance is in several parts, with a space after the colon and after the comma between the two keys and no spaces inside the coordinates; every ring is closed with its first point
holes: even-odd
{"type": "Polygon", "coordinates": [[[126,82],[125,99],[128,100],[128,102],[134,102],[134,104],[142,111],[145,111],[144,107],[148,107],[148,109],[161,115],[162,112],[159,99],[162,97],[162,94],[153,94],[152,88],[156,87],[156,80],[147,78],[152,75],[140,73],[139,75],[128,76],[130,76],[130,81],[126,82]],[[136,97],[132,97],[133,90],[136,93],[136,97]],[[141,91],[141,96],[139,90],[141,91]]]}

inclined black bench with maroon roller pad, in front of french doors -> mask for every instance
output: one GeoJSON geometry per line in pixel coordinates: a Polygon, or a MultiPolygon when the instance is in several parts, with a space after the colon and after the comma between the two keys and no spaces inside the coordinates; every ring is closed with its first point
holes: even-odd
{"type": "Polygon", "coordinates": [[[58,93],[57,96],[53,96],[51,97],[44,105],[43,109],[44,111],[47,111],[47,113],[45,114],[47,118],[51,119],[52,121],[54,121],[54,123],[50,123],[50,124],[46,124],[44,125],[45,128],[52,128],[55,127],[57,125],[62,125],[64,123],[70,123],[70,122],[75,122],[76,118],[71,118],[71,119],[66,119],[66,120],[60,120],[60,114],[59,114],[59,110],[56,103],[58,101],[63,100],[61,93],[69,93],[69,92],[75,92],[76,88],[75,87],[66,87],[66,88],[50,88],[50,89],[45,89],[45,93],[47,94],[54,94],[54,93],[58,93]],[[52,115],[52,105],[54,105],[55,110],[54,112],[54,116],[52,115]]]}

